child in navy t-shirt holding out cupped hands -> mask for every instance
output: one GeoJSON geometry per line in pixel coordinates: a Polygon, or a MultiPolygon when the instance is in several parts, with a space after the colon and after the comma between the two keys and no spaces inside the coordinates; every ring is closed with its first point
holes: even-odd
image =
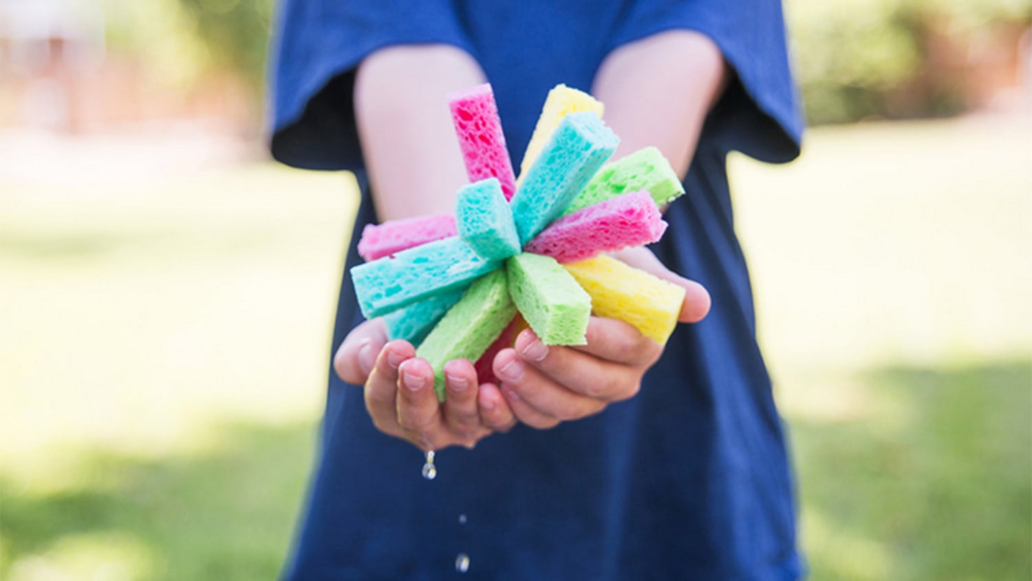
{"type": "MultiPolygon", "coordinates": [[[[620,258],[684,286],[692,323],[665,349],[609,319],[592,318],[579,348],[524,331],[494,360],[501,386],[452,361],[439,406],[425,361],[362,321],[346,270],[336,373],[285,577],[801,577],[724,166],[732,150],[799,153],[780,6],[285,0],[280,31],[272,153],[355,171],[355,234],[452,208],[466,179],[449,92],[491,83],[518,162],[548,90],[588,90],[621,138],[616,157],[656,146],[684,176],[654,256],[620,258]],[[439,450],[432,482],[418,475],[419,449],[439,450]]],[[[358,263],[353,239],[346,269],[358,263]]]]}

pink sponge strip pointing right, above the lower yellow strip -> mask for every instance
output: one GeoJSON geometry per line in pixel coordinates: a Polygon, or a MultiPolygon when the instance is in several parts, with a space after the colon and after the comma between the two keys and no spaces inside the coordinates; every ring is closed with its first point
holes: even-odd
{"type": "Polygon", "coordinates": [[[652,196],[632,192],[583,207],[553,222],[527,243],[525,252],[578,262],[603,252],[654,243],[667,223],[652,196]]]}

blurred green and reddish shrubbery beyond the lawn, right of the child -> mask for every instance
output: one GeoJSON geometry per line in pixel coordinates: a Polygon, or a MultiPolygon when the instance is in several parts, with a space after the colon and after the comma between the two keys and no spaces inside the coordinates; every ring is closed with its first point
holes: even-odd
{"type": "Polygon", "coordinates": [[[971,72],[979,31],[1032,22],[1028,0],[787,0],[786,9],[812,124],[960,112],[976,104],[967,85],[983,80],[971,72]]]}

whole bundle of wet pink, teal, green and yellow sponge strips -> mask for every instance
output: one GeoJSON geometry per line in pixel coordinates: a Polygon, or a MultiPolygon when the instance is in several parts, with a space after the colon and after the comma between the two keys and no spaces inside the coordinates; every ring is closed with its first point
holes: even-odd
{"type": "Polygon", "coordinates": [[[517,180],[490,85],[453,95],[450,107],[471,181],[454,215],[366,226],[367,262],[351,269],[362,314],[417,347],[438,398],[446,362],[493,357],[523,326],[545,345],[584,345],[593,312],[666,343],[684,290],[605,254],[666,230],[659,206],[684,190],[658,150],[607,163],[619,138],[602,103],[559,85],[517,180]]]}

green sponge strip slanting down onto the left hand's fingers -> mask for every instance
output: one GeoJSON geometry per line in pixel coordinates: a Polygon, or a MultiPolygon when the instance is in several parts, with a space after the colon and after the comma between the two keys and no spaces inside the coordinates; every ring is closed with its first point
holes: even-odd
{"type": "Polygon", "coordinates": [[[462,298],[438,323],[416,350],[433,367],[433,389],[445,400],[445,363],[452,359],[476,362],[516,315],[509,297],[505,270],[473,283],[462,298]]]}

